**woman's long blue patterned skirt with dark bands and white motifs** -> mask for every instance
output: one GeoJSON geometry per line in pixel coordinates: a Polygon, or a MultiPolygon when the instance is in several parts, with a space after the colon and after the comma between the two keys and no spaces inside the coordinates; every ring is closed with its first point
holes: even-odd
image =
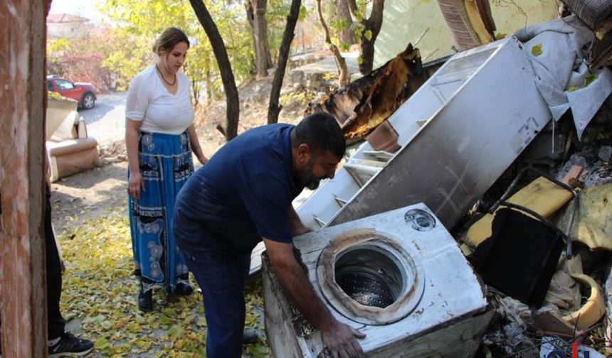
{"type": "Polygon", "coordinates": [[[129,195],[127,199],[135,274],[143,291],[164,288],[172,293],[176,283],[189,280],[172,232],[176,195],[194,173],[189,136],[186,132],[179,135],[141,132],[138,142],[144,190],[140,190],[139,200],[132,200],[129,195]]]}

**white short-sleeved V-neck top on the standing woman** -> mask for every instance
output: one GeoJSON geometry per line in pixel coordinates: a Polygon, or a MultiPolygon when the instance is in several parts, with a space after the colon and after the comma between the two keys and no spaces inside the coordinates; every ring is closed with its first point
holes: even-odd
{"type": "Polygon", "coordinates": [[[184,72],[177,72],[176,80],[179,88],[172,94],[164,87],[154,65],[140,72],[127,90],[127,119],[142,121],[140,130],[144,132],[183,133],[194,122],[191,84],[184,72]]]}

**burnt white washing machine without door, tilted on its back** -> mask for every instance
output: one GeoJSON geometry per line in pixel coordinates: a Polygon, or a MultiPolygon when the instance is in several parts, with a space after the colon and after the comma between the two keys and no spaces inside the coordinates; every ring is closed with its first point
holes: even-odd
{"type": "MultiPolygon", "coordinates": [[[[294,244],[332,315],[366,334],[359,340],[366,357],[473,357],[478,349],[492,317],[483,285],[426,205],[310,232],[294,244]]],[[[292,305],[265,254],[262,274],[273,356],[327,357],[320,332],[292,305]]]]}

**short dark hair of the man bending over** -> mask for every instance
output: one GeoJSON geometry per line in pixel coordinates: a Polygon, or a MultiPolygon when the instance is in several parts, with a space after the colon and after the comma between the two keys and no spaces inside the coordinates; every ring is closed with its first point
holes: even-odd
{"type": "Polygon", "coordinates": [[[347,143],[334,116],[328,113],[310,114],[295,126],[296,144],[308,144],[313,153],[329,150],[338,158],[344,156],[347,143]]]}

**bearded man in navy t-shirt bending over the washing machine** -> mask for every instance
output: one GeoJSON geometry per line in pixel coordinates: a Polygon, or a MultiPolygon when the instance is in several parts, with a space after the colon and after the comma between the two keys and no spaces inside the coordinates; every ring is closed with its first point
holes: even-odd
{"type": "Polygon", "coordinates": [[[342,130],[329,114],[312,114],[297,126],[260,126],[226,143],[179,192],[174,234],[204,295],[209,358],[241,357],[243,283],[250,252],[262,239],[287,295],[334,357],[363,356],[355,337],[364,335],[329,313],[292,244],[311,231],[292,200],[333,178],[344,150],[342,130]]]}

